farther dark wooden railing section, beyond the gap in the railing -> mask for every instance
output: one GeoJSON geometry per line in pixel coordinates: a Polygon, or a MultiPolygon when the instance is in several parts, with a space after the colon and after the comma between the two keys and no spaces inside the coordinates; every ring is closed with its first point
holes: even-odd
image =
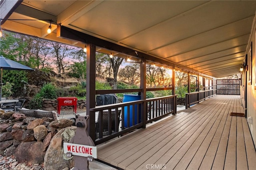
{"type": "Polygon", "coordinates": [[[192,93],[186,93],[186,109],[193,104],[199,103],[202,100],[206,100],[207,98],[210,98],[212,96],[216,95],[216,90],[210,89],[210,90],[203,90],[200,92],[192,92],[192,93]]]}

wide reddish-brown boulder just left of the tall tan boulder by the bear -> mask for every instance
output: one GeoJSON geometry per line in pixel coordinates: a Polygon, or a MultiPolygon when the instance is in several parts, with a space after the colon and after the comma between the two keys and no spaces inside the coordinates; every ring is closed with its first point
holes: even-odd
{"type": "Polygon", "coordinates": [[[26,162],[28,165],[42,164],[44,162],[44,155],[46,153],[42,151],[42,147],[42,142],[21,142],[16,149],[14,158],[18,162],[26,162]]]}

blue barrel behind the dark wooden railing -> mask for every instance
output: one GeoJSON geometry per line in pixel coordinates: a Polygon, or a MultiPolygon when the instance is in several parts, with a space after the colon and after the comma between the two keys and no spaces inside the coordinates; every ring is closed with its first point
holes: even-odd
{"type": "MultiPolygon", "coordinates": [[[[124,94],[124,99],[123,99],[123,102],[132,102],[132,101],[136,101],[136,100],[140,100],[140,96],[138,95],[134,95],[134,94],[124,94]]],[[[136,125],[137,123],[140,123],[141,120],[140,120],[140,115],[139,115],[139,122],[137,122],[137,106],[138,104],[135,105],[135,121],[134,121],[134,125],[136,125]]],[[[128,106],[125,106],[124,107],[124,127],[131,127],[132,126],[132,106],[130,106],[130,117],[129,117],[129,126],[128,126],[128,109],[127,109],[128,106]]],[[[139,109],[140,110],[140,109],[139,109]]]]}

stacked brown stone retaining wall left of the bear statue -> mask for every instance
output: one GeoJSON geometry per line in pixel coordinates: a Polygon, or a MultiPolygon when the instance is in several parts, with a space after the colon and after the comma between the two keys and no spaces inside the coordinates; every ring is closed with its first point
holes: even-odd
{"type": "Polygon", "coordinates": [[[45,170],[74,166],[63,150],[63,142],[69,142],[76,131],[72,120],[37,119],[13,111],[0,113],[1,155],[14,155],[18,162],[28,165],[44,164],[45,170]]]}

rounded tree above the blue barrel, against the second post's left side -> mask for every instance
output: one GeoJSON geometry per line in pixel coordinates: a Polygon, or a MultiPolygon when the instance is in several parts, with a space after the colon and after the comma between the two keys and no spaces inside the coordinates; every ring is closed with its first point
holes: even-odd
{"type": "Polygon", "coordinates": [[[130,85],[135,85],[140,80],[140,65],[127,65],[120,69],[118,76],[130,85]]]}

